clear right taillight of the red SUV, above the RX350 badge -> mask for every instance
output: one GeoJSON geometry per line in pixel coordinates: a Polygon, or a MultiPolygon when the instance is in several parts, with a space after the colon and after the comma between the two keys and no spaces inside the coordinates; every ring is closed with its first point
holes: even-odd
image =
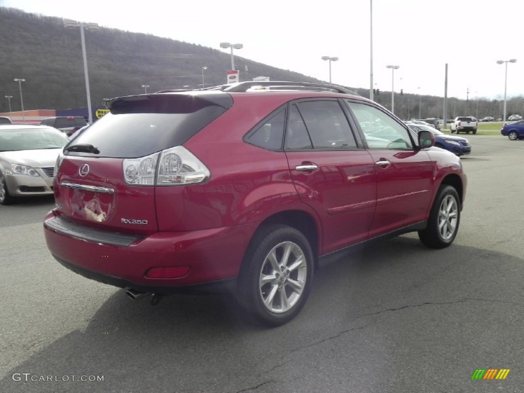
{"type": "Polygon", "coordinates": [[[124,178],[129,185],[184,185],[201,183],[210,171],[183,146],[173,147],[141,158],[123,161],[124,178]]]}

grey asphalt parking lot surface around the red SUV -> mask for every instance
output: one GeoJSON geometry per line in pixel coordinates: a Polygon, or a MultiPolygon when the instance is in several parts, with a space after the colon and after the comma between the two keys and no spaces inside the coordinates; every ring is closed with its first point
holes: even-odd
{"type": "Polygon", "coordinates": [[[52,259],[52,197],[0,206],[0,391],[521,391],[524,140],[466,137],[455,243],[408,234],[356,250],[316,272],[276,329],[243,322],[226,294],[133,302],[52,259]],[[510,372],[471,379],[491,368],[510,372]]]}

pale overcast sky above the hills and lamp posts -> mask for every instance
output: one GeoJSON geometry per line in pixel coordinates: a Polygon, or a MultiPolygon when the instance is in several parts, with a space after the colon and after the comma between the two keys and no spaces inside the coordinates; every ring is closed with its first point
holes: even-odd
{"type": "MultiPolygon", "coordinates": [[[[325,81],[329,62],[321,57],[336,56],[333,83],[369,88],[370,0],[0,0],[0,5],[216,49],[222,41],[243,43],[238,56],[325,81]]],[[[448,96],[466,99],[469,89],[470,99],[503,97],[505,64],[496,61],[515,58],[517,63],[508,64],[507,94],[524,94],[523,11],[524,2],[517,0],[373,0],[375,88],[391,91],[386,65],[392,64],[400,67],[395,91],[444,96],[448,63],[448,96]]]]}

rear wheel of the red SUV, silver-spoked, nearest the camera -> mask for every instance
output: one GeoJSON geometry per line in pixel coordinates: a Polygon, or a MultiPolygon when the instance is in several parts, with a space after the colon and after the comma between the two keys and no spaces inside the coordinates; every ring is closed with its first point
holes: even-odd
{"type": "Polygon", "coordinates": [[[268,225],[250,243],[237,279],[242,310],[256,322],[279,326],[291,321],[308,299],[313,252],[296,228],[268,225]]]}

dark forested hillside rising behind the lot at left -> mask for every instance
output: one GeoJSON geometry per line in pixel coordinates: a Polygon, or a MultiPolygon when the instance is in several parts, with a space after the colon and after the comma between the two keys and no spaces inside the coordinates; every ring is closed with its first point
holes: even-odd
{"type": "MultiPolygon", "coordinates": [[[[111,28],[85,31],[91,99],[162,89],[194,88],[225,83],[231,56],[218,49],[153,35],[111,28]]],[[[63,109],[85,106],[85,80],[80,30],[63,27],[63,19],[0,7],[0,112],[8,111],[5,95],[12,95],[13,111],[20,110],[18,83],[23,78],[24,108],[63,109]]],[[[260,75],[271,80],[321,82],[297,72],[250,61],[235,54],[241,80],[260,75]],[[247,72],[246,72],[247,65],[247,72]],[[247,74],[247,75],[246,75],[247,74]]]]}

